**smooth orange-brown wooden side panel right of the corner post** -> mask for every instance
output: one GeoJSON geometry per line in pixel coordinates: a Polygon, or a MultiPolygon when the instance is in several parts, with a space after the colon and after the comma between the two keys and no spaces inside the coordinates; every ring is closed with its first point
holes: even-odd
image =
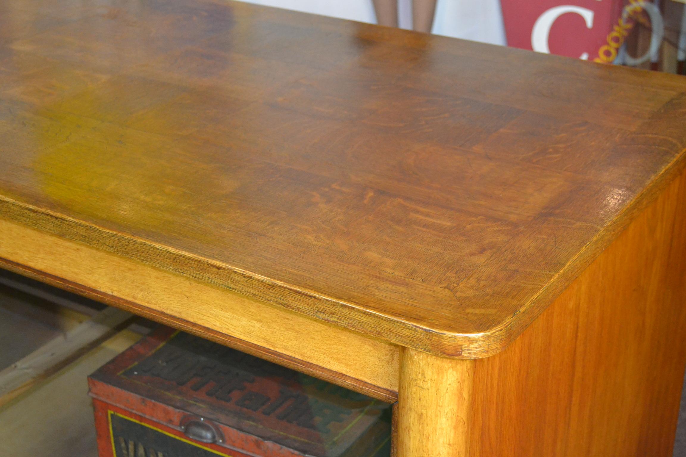
{"type": "Polygon", "coordinates": [[[471,455],[671,456],[686,360],[686,175],[505,351],[476,361],[471,455]]]}

